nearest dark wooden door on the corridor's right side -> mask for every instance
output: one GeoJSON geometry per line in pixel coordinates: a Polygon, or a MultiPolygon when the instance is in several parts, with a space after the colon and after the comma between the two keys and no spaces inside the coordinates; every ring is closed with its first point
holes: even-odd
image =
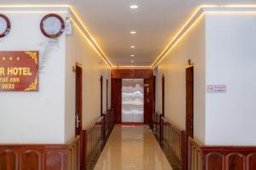
{"type": "Polygon", "coordinates": [[[194,133],[194,67],[186,68],[186,132],[193,138],[194,133]]]}

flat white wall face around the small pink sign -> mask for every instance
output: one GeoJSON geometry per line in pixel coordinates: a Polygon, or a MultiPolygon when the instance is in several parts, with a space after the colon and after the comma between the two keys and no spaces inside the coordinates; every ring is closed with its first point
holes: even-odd
{"type": "Polygon", "coordinates": [[[207,14],[206,144],[256,144],[256,14],[207,14]]]}

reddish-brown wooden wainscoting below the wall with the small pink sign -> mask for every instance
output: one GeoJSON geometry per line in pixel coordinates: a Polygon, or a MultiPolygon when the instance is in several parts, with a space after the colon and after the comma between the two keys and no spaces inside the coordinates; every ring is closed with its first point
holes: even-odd
{"type": "Polygon", "coordinates": [[[206,146],[189,138],[191,170],[255,170],[256,147],[206,146]]]}

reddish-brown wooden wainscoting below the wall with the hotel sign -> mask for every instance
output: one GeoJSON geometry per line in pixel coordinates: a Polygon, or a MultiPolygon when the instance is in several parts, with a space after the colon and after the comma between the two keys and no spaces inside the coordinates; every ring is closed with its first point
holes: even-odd
{"type": "Polygon", "coordinates": [[[67,144],[0,144],[0,170],[79,170],[79,137],[67,144]]]}

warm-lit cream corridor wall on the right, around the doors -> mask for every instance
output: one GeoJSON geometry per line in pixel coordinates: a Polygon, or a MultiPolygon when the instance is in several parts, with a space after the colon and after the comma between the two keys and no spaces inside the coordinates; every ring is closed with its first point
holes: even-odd
{"type": "Polygon", "coordinates": [[[165,116],[177,127],[185,129],[186,88],[185,70],[188,59],[195,64],[195,138],[205,139],[205,18],[177,43],[158,65],[157,109],[161,111],[162,74],[165,75],[165,116]]]}

